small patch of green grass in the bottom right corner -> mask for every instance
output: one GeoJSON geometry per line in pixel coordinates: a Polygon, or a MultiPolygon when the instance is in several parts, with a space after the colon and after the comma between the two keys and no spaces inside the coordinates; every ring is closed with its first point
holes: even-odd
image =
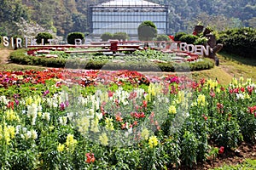
{"type": "Polygon", "coordinates": [[[256,160],[246,159],[243,163],[235,166],[224,165],[223,167],[216,167],[214,170],[254,170],[256,169],[256,160]]]}

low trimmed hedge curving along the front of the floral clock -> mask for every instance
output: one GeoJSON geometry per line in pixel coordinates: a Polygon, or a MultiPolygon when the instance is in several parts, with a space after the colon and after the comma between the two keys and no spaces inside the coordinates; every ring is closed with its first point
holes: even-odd
{"type": "Polygon", "coordinates": [[[92,70],[133,70],[133,71],[201,71],[214,67],[212,59],[201,59],[189,63],[153,63],[126,61],[113,63],[108,60],[55,59],[26,55],[26,49],[15,50],[10,57],[12,62],[21,65],[42,65],[56,68],[79,68],[92,70]]]}

